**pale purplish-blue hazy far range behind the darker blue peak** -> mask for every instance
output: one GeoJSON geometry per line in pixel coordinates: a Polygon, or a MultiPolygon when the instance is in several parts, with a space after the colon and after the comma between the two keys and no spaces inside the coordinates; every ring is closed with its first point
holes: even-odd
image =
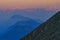
{"type": "Polygon", "coordinates": [[[7,10],[7,11],[1,11],[0,13],[0,19],[6,20],[9,19],[13,15],[21,15],[24,17],[29,17],[33,20],[36,20],[37,22],[40,22],[42,20],[45,22],[47,19],[49,19],[51,16],[53,16],[57,11],[47,11],[43,8],[41,9],[17,9],[17,10],[7,10]],[[47,16],[46,16],[47,15],[47,16]]]}

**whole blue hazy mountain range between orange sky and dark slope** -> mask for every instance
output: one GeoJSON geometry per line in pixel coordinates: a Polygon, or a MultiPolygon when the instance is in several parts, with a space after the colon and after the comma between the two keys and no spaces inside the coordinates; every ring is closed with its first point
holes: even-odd
{"type": "Polygon", "coordinates": [[[18,40],[54,14],[44,9],[0,11],[0,40],[18,40]]]}

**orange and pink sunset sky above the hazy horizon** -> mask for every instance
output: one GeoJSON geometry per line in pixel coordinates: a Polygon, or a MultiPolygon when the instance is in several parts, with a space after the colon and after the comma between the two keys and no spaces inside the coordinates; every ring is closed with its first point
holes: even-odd
{"type": "Polygon", "coordinates": [[[60,9],[60,0],[0,0],[0,9],[60,9]]]}

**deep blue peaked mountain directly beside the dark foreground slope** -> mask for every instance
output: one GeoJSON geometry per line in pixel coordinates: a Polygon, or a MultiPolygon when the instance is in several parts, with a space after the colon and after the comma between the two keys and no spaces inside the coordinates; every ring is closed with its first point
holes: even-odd
{"type": "Polygon", "coordinates": [[[0,40],[19,40],[19,38],[27,35],[42,23],[42,21],[38,23],[35,20],[20,15],[14,15],[11,19],[18,21],[8,28],[8,32],[0,40]]]}

